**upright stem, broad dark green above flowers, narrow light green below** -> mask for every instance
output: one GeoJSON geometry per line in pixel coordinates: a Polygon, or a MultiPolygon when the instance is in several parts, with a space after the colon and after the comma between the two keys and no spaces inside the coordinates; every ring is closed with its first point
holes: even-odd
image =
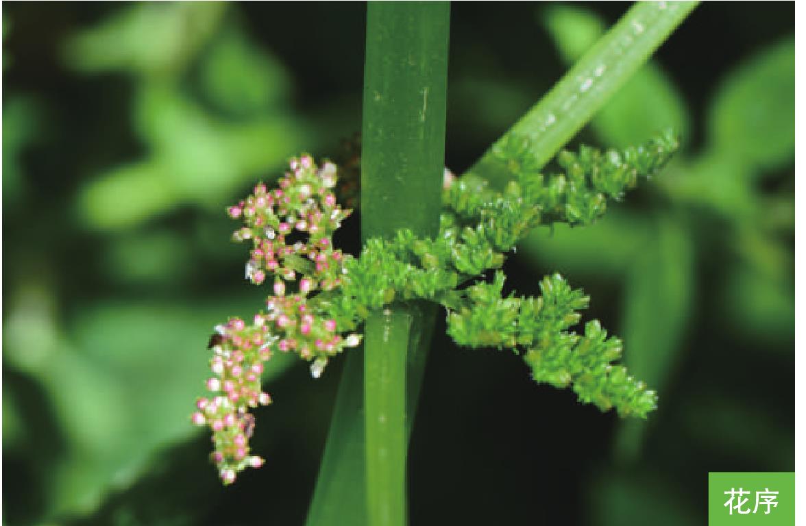
{"type": "MultiPolygon", "coordinates": [[[[448,16],[447,2],[368,4],[361,160],[364,240],[392,238],[402,228],[425,236],[438,233],[448,16]]],[[[372,526],[405,524],[407,363],[409,343],[420,338],[413,332],[415,317],[422,317],[418,305],[392,304],[365,324],[366,488],[372,526]]],[[[415,363],[422,371],[424,362],[415,363]]]]}

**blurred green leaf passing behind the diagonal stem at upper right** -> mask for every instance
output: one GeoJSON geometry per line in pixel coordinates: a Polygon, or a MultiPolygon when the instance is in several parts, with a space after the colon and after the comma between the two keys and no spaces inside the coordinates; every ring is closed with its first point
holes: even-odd
{"type": "MultiPolygon", "coordinates": [[[[546,9],[544,22],[566,64],[573,64],[588,51],[606,28],[596,14],[562,4],[546,9]]],[[[685,143],[690,123],[685,101],[674,83],[650,61],[596,114],[590,126],[609,146],[628,147],[670,127],[685,143]]]]}

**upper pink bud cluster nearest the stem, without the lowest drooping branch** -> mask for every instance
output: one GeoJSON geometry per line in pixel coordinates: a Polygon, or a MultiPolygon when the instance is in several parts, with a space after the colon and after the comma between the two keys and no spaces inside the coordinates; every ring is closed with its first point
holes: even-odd
{"type": "MultiPolygon", "coordinates": [[[[330,162],[321,168],[310,155],[289,160],[289,171],[277,181],[279,188],[257,184],[255,192],[230,209],[243,219],[235,239],[251,239],[247,279],[262,284],[271,279],[265,319],[281,334],[277,349],[297,352],[306,360],[318,360],[312,369],[318,377],[327,358],[355,342],[343,338],[336,322],[327,319],[309,302],[318,292],[342,284],[345,261],[351,258],[335,250],[332,235],[351,209],[342,209],[332,189],[338,168],[330,162]]],[[[263,315],[261,315],[263,316],[263,315]]]]}

